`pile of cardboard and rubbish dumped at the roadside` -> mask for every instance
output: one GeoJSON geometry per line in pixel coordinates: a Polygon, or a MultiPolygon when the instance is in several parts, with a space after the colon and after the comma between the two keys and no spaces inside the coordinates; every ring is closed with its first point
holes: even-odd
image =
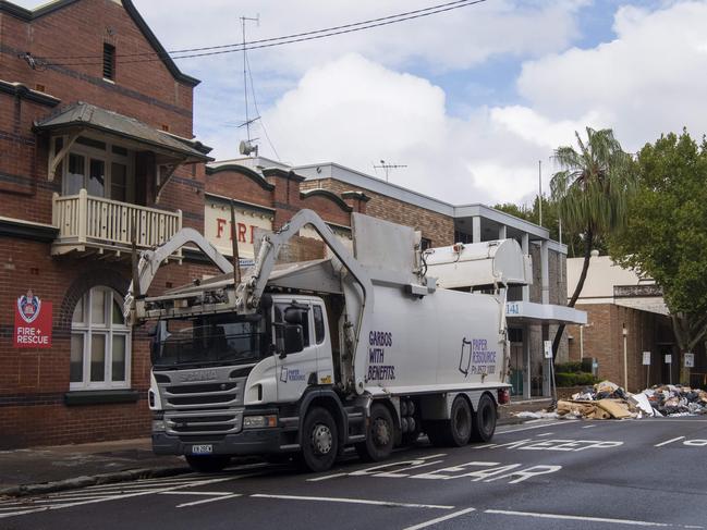
{"type": "Polygon", "coordinates": [[[661,384],[631,394],[610,381],[602,381],[574,394],[572,399],[560,399],[554,411],[521,412],[517,416],[623,419],[698,414],[707,415],[707,392],[704,390],[661,384]]]}

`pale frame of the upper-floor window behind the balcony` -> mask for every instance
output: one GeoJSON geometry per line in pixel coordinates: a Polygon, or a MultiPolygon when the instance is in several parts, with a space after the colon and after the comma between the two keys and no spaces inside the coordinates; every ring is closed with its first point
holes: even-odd
{"type": "MultiPolygon", "coordinates": [[[[95,147],[86,146],[83,144],[78,144],[77,141],[74,141],[74,145],[71,146],[71,150],[64,158],[64,163],[62,164],[63,167],[62,185],[61,185],[62,194],[64,196],[70,195],[69,190],[66,189],[66,185],[69,182],[69,180],[66,178],[66,174],[69,173],[69,157],[71,155],[75,155],[78,157],[83,157],[84,159],[84,186],[83,187],[86,187],[86,178],[88,177],[88,172],[90,171],[90,159],[93,158],[95,160],[100,160],[101,162],[103,162],[103,171],[106,172],[103,176],[106,177],[106,181],[103,182],[102,198],[107,198],[107,199],[110,199],[110,194],[112,192],[111,172],[112,172],[113,162],[125,165],[126,167],[125,185],[127,187],[125,190],[125,202],[130,202],[130,204],[135,202],[135,150],[121,144],[110,143],[106,137],[101,137],[99,135],[82,134],[81,136],[96,141],[102,141],[103,144],[106,144],[106,150],[103,151],[102,149],[97,149],[95,147]],[[126,149],[127,156],[114,153],[113,147],[121,147],[123,149],[126,149]]],[[[53,139],[53,141],[56,141],[56,139],[53,139]]],[[[62,141],[65,145],[68,141],[68,137],[63,136],[62,141]]]]}

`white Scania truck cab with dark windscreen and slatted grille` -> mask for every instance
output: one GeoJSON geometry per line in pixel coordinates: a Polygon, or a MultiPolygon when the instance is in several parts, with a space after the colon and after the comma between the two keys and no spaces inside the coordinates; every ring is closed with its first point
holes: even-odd
{"type": "Polygon", "coordinates": [[[297,447],[292,410],[307,390],[336,382],[328,315],[316,296],[266,299],[258,313],[159,321],[149,391],[156,453],[204,469],[218,455],[297,447]]]}

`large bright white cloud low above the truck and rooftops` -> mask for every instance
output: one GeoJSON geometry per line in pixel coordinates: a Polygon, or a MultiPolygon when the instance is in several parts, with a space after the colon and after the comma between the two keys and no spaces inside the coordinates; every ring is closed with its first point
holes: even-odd
{"type": "Polygon", "coordinates": [[[535,185],[537,153],[547,150],[487,109],[449,116],[441,88],[358,54],[307,72],[264,120],[283,160],[334,161],[370,174],[381,159],[406,164],[390,172],[391,182],[454,204],[522,199],[535,185]]]}

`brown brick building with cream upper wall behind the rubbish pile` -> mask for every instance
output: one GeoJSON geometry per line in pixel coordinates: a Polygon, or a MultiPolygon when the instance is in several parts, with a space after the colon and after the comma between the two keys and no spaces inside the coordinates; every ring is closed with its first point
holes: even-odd
{"type": "MultiPolygon", "coordinates": [[[[568,297],[582,262],[583,258],[568,260],[568,297]]],[[[707,385],[705,344],[692,352],[694,367],[685,370],[662,292],[653,280],[595,252],[576,306],[587,312],[587,323],[568,328],[570,359],[594,359],[599,378],[630,392],[681,381],[707,385]]]]}

